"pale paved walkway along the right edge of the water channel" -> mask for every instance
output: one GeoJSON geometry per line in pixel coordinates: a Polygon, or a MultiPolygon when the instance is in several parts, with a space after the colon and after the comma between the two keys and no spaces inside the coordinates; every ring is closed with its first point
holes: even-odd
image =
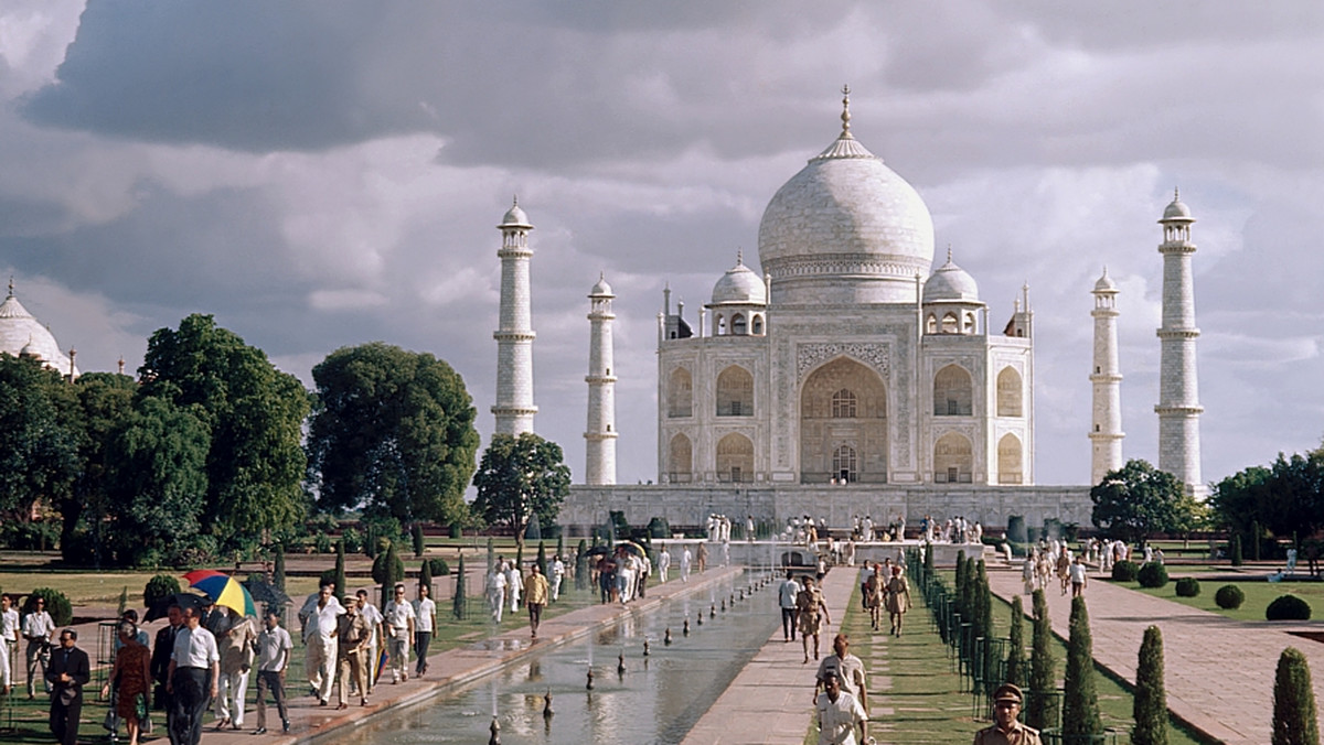
{"type": "MultiPolygon", "coordinates": [[[[846,617],[846,603],[850,602],[858,574],[855,568],[841,566],[824,578],[824,601],[833,619],[830,626],[824,626],[821,634],[824,655],[831,654],[831,638],[846,617]]],[[[768,613],[780,614],[777,593],[767,597],[771,597],[771,601],[764,601],[768,602],[768,613]]],[[[683,742],[801,745],[806,728],[814,719],[814,674],[818,671],[813,659],[809,664],[804,659],[800,640],[789,644],[782,642],[779,625],[683,742]]]]}

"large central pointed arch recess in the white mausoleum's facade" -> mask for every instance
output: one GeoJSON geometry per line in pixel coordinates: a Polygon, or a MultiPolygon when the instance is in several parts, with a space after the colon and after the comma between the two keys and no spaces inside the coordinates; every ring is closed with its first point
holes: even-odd
{"type": "Polygon", "coordinates": [[[800,480],[887,482],[887,388],[850,357],[825,363],[800,389],[800,480]],[[851,467],[842,467],[843,453],[851,467]]]}

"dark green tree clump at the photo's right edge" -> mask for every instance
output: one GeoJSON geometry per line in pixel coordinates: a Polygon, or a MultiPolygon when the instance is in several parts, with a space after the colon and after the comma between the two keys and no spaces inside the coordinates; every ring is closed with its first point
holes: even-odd
{"type": "Polygon", "coordinates": [[[1259,523],[1278,537],[1311,536],[1324,528],[1324,447],[1238,471],[1214,486],[1209,504],[1237,533],[1259,523]]]}

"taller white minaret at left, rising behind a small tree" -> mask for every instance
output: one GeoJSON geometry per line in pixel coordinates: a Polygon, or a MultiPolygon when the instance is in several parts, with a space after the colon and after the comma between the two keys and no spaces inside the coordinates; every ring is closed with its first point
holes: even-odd
{"type": "Polygon", "coordinates": [[[496,417],[495,434],[534,431],[534,328],[530,323],[528,216],[519,209],[519,198],[502,218],[500,319],[493,339],[496,340],[496,417]]]}

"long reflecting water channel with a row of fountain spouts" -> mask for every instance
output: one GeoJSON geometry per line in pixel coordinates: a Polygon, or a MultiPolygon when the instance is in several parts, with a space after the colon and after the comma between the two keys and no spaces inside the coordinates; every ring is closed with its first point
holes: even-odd
{"type": "Polygon", "coordinates": [[[711,592],[632,614],[475,683],[392,709],[336,733],[335,740],[347,745],[483,744],[495,711],[506,745],[679,742],[780,625],[776,585],[752,594],[745,590],[741,601],[749,581],[747,573],[711,592]],[[714,609],[716,615],[710,617],[714,609]],[[682,633],[686,618],[688,636],[682,633]],[[670,646],[663,642],[667,629],[670,646]],[[624,674],[617,672],[621,655],[624,674]],[[591,667],[593,689],[588,691],[591,667]],[[548,692],[555,715],[544,717],[548,692]]]}

